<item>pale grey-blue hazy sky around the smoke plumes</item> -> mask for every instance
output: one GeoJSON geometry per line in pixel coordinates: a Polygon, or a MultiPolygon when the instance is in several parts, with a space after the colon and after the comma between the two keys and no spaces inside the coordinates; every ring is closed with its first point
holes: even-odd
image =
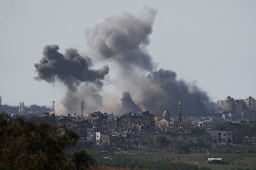
{"type": "MultiPolygon", "coordinates": [[[[65,86],[33,79],[47,44],[85,54],[87,28],[122,11],[158,13],[148,51],[159,68],[197,81],[212,101],[256,98],[256,1],[0,1],[3,103],[50,105],[65,86]]],[[[89,56],[90,57],[90,56],[89,56]]]]}

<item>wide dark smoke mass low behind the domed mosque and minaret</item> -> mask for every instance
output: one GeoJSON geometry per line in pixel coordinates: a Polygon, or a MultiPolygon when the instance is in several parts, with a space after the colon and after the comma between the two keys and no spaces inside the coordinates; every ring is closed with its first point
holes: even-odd
{"type": "Polygon", "coordinates": [[[155,90],[141,88],[139,98],[143,108],[154,113],[162,113],[167,109],[176,112],[181,101],[185,115],[200,115],[209,112],[209,96],[196,84],[178,80],[176,72],[159,69],[146,77],[148,84],[154,84],[155,90]],[[157,89],[157,90],[156,90],[157,89]]]}

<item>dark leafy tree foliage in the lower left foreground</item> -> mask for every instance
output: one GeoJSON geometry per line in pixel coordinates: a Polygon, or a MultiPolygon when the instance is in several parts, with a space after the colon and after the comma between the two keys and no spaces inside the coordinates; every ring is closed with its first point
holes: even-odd
{"type": "Polygon", "coordinates": [[[94,165],[87,152],[65,152],[77,139],[74,132],[0,113],[0,169],[86,169],[94,165]]]}

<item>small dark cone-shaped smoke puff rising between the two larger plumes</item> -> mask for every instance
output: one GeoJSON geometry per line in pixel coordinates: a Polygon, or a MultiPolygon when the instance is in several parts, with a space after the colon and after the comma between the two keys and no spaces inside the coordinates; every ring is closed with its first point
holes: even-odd
{"type": "Polygon", "coordinates": [[[141,108],[137,105],[133,99],[131,98],[131,94],[129,91],[123,92],[123,97],[121,99],[121,106],[123,112],[140,112],[141,108]]]}

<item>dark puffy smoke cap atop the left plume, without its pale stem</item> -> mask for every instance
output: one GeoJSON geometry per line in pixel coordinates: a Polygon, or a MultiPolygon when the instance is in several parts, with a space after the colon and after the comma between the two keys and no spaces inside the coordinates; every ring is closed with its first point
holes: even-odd
{"type": "Polygon", "coordinates": [[[58,45],[46,45],[42,52],[43,57],[35,64],[36,80],[45,80],[48,83],[56,80],[64,83],[70,90],[76,90],[81,82],[101,83],[100,80],[108,74],[109,67],[92,69],[92,60],[82,57],[74,48],[66,49],[65,54],[58,52],[58,45]]]}

